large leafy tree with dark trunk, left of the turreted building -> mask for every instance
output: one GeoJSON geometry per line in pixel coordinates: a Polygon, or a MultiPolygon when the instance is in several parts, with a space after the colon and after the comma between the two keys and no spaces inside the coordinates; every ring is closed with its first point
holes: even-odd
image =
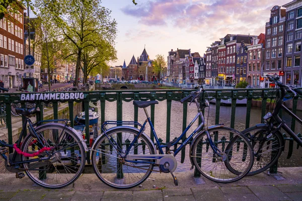
{"type": "Polygon", "coordinates": [[[48,9],[51,19],[61,30],[62,36],[71,44],[71,55],[77,56],[75,84],[78,85],[79,70],[87,68],[82,63],[86,48],[95,47],[96,35],[114,46],[116,38],[116,21],[111,19],[111,11],[101,6],[100,0],[37,0],[36,4],[48,9]]]}

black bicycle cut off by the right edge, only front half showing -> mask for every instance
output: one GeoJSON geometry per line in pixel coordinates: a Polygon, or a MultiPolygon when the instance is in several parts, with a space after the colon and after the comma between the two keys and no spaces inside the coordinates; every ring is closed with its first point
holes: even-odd
{"type": "MultiPolygon", "coordinates": [[[[299,146],[302,146],[302,140],[300,140],[285,124],[284,120],[278,116],[279,112],[283,110],[298,123],[302,124],[302,120],[283,105],[284,100],[292,98],[285,96],[286,91],[292,93],[293,96],[296,96],[297,94],[302,95],[302,91],[294,86],[285,85],[279,82],[279,76],[274,77],[267,75],[267,77],[279,87],[279,91],[276,94],[277,99],[273,113],[267,113],[263,117],[265,123],[257,124],[254,127],[242,131],[242,133],[250,139],[255,152],[254,165],[247,175],[259,174],[270,168],[278,160],[284,149],[284,139],[281,128],[284,129],[299,146]]],[[[232,169],[230,171],[235,172],[232,169]]]]}

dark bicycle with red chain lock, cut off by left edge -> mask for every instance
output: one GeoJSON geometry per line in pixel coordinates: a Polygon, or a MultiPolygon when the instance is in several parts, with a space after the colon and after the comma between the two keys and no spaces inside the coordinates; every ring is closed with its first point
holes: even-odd
{"type": "Polygon", "coordinates": [[[88,151],[86,141],[69,127],[68,120],[32,123],[29,117],[38,112],[39,108],[16,108],[17,114],[26,117],[22,131],[15,144],[0,140],[0,156],[6,169],[16,172],[17,178],[23,178],[25,171],[37,185],[51,189],[65,187],[83,172],[88,151]],[[29,134],[25,136],[27,125],[29,134]]]}

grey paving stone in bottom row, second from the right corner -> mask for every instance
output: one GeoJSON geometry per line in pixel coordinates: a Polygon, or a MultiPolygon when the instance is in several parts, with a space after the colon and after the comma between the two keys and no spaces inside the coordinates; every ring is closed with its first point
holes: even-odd
{"type": "Polygon", "coordinates": [[[249,188],[254,192],[254,194],[260,200],[288,200],[289,197],[286,196],[275,186],[249,186],[249,188]]]}

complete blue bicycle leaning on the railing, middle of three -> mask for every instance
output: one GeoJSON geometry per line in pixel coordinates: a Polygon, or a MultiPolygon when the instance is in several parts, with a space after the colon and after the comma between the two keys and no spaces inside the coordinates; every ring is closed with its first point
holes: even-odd
{"type": "Polygon", "coordinates": [[[133,101],[134,106],[144,110],[147,119],[143,125],[138,122],[106,121],[102,125],[103,134],[96,139],[91,152],[93,169],[100,180],[111,187],[126,189],[139,185],[152,171],[156,171],[171,173],[175,185],[178,185],[178,180],[173,174],[177,167],[175,156],[189,143],[192,168],[195,166],[206,178],[227,183],[244,177],[253,166],[252,146],[247,137],[235,129],[224,127],[222,124],[206,126],[202,110],[209,107],[209,103],[204,99],[204,92],[201,87],[180,100],[184,103],[191,99],[190,104],[196,104],[198,114],[177,139],[167,144],[160,144],[146,110],[148,106],[158,104],[156,100],[133,101]],[[201,104],[198,99],[201,99],[201,104]],[[198,118],[201,123],[176,148],[198,118]],[[146,123],[153,131],[155,144],[143,133],[146,123]],[[117,126],[107,130],[107,125],[117,126]],[[129,125],[137,125],[140,129],[129,125]],[[175,149],[171,150],[171,147],[175,149]],[[166,149],[165,153],[163,148],[166,149]],[[154,166],[159,170],[154,170],[154,166]],[[230,167],[240,173],[230,172],[230,167]]]}

